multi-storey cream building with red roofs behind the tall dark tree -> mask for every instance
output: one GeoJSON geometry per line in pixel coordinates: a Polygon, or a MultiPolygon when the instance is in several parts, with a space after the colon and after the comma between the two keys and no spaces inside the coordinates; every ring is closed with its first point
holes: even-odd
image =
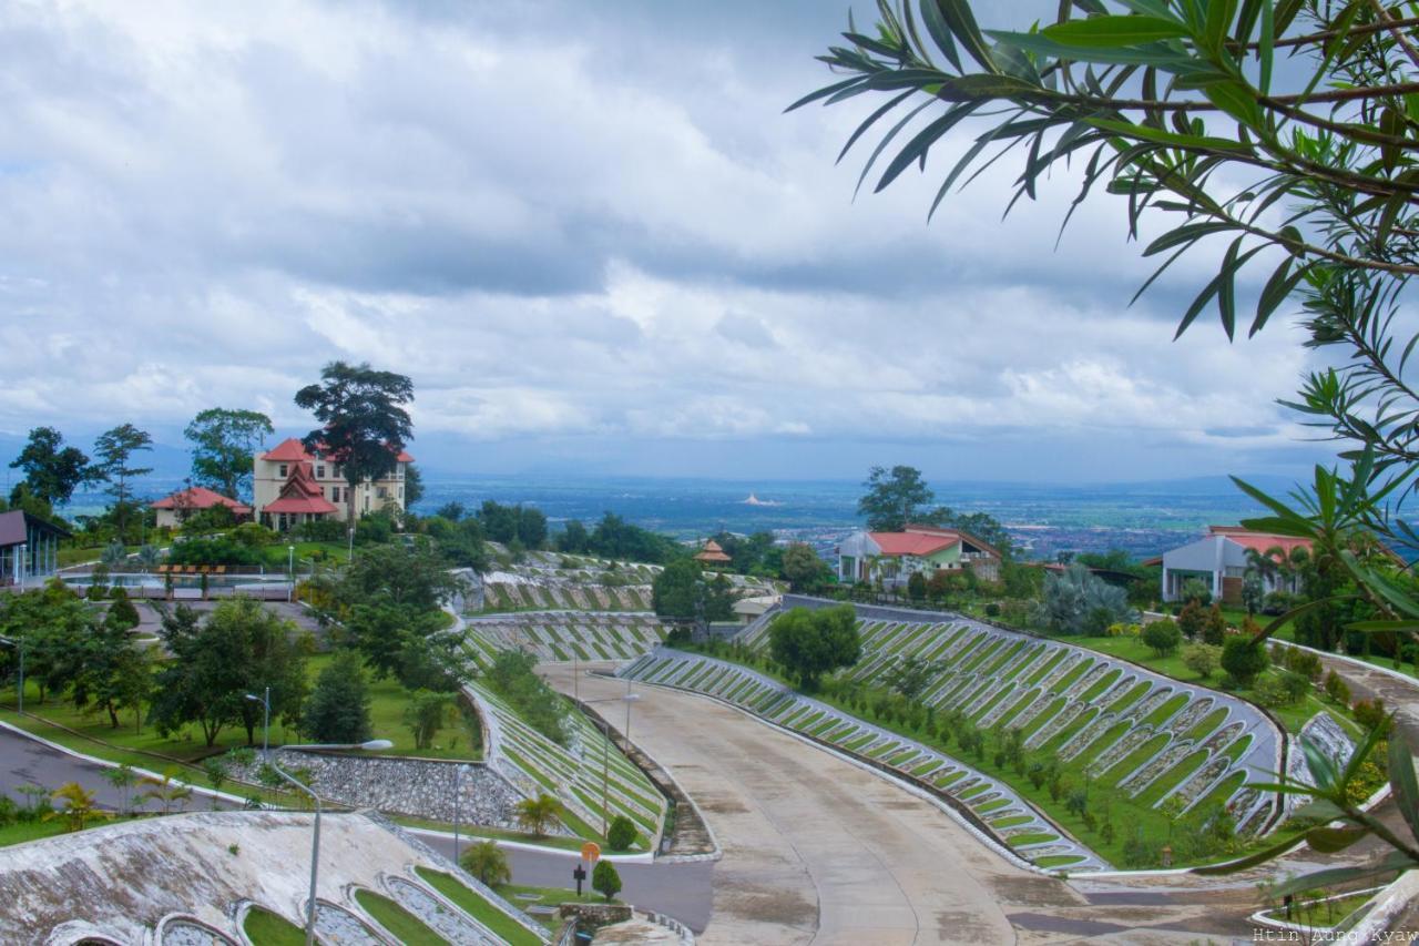
{"type": "Polygon", "coordinates": [[[400,452],[394,472],[356,487],[345,482],[339,463],[322,450],[307,450],[295,437],[255,457],[253,483],[257,521],[285,531],[322,518],[345,520],[379,510],[404,511],[404,474],[414,457],[400,452]]]}

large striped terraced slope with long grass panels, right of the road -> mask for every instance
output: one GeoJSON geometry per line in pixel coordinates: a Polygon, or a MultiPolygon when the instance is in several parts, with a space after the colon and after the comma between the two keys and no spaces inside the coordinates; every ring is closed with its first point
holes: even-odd
{"type": "Polygon", "coordinates": [[[1274,795],[1242,784],[1280,768],[1284,736],[1244,700],[964,618],[864,621],[860,631],[864,658],[851,679],[876,683],[911,655],[938,660],[941,670],[922,696],[928,706],[965,710],[983,729],[1020,729],[1026,749],[1080,760],[1091,776],[1151,807],[1176,797],[1191,811],[1219,800],[1240,832],[1269,827],[1274,795]]]}

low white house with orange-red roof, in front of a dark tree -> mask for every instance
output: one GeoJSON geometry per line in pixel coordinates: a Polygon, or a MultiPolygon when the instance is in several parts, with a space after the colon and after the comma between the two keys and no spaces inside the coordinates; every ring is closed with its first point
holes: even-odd
{"type": "Polygon", "coordinates": [[[969,533],[935,526],[907,526],[900,533],[853,533],[837,547],[837,580],[902,585],[914,572],[971,568],[999,581],[1000,553],[969,533]]]}

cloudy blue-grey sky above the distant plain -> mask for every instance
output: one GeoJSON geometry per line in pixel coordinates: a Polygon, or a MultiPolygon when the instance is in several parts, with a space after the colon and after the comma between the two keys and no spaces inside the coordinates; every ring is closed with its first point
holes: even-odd
{"type": "Polygon", "coordinates": [[[1056,249],[1070,182],[1002,222],[1002,168],[928,224],[945,153],[854,202],[860,158],[833,159],[864,109],[782,114],[844,23],[820,0],[7,3],[0,437],[132,420],[180,445],[214,405],[304,433],[292,393],[348,359],[413,376],[431,472],[1325,456],[1273,403],[1305,368],[1286,325],[1171,341],[1209,260],[1127,307],[1149,270],[1117,203],[1056,249]]]}

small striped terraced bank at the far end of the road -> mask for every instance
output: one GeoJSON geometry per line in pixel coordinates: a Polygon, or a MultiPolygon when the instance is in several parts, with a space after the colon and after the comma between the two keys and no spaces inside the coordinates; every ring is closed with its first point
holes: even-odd
{"type": "Polygon", "coordinates": [[[522,648],[541,662],[630,660],[653,651],[666,628],[650,615],[575,611],[504,614],[465,624],[473,659],[482,665],[498,651],[522,648]]]}

